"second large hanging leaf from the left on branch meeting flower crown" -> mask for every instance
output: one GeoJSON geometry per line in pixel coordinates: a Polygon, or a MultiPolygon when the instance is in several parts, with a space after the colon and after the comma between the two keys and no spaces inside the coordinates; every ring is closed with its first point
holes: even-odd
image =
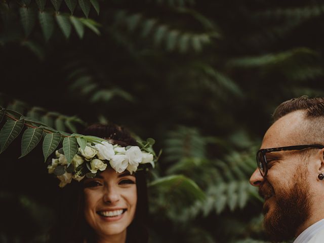
{"type": "Polygon", "coordinates": [[[22,135],[21,157],[27,155],[41,141],[43,128],[28,128],[22,135]]]}

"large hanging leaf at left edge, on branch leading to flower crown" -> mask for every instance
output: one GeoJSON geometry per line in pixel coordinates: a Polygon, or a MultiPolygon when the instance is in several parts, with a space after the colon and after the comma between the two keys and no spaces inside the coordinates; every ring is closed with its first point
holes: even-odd
{"type": "Polygon", "coordinates": [[[24,120],[8,120],[0,131],[0,153],[5,151],[9,144],[19,135],[23,126],[24,120]]]}

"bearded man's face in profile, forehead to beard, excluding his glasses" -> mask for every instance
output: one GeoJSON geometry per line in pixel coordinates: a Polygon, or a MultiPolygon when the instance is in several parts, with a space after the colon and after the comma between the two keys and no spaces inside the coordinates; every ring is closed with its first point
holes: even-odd
{"type": "MultiPolygon", "coordinates": [[[[299,145],[302,113],[292,112],[278,119],[266,132],[261,148],[299,145]]],[[[257,169],[250,178],[264,197],[264,227],[273,241],[294,237],[310,216],[308,164],[301,151],[267,153],[268,174],[257,169]]]]}

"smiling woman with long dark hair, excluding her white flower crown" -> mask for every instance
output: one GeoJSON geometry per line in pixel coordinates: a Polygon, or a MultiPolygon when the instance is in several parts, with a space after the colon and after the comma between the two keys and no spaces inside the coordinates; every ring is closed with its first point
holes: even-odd
{"type": "MultiPolygon", "coordinates": [[[[127,130],[115,125],[93,125],[83,134],[104,138],[115,146],[119,145],[120,151],[137,144],[127,130]]],[[[118,152],[115,155],[119,155],[118,152]]],[[[111,163],[112,160],[104,170],[97,171],[96,177],[83,178],[79,183],[74,182],[64,188],[63,200],[60,200],[63,204],[58,211],[60,216],[52,232],[53,242],[148,241],[145,170],[137,170],[134,174],[128,170],[118,173],[118,167],[111,163]]],[[[90,165],[92,167],[92,163],[90,165]]]]}

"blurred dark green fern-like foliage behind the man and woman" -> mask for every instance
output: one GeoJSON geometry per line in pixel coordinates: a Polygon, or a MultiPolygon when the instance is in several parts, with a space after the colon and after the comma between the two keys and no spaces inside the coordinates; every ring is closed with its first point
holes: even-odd
{"type": "MultiPolygon", "coordinates": [[[[0,103],[61,131],[111,121],[154,138],[164,152],[150,181],[169,177],[150,187],[151,242],[265,242],[248,179],[273,109],[324,94],[323,11],[298,0],[1,0],[0,103]],[[206,200],[170,186],[174,174],[206,200]]],[[[42,152],[13,154],[0,157],[0,241],[45,242],[57,182],[42,152]]]]}

